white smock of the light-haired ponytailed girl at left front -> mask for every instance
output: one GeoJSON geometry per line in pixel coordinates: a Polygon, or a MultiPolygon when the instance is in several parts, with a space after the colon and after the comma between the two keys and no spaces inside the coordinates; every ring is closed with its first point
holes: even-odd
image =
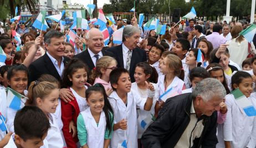
{"type": "Polygon", "coordinates": [[[64,143],[62,135],[60,134],[57,118],[54,114],[48,114],[50,121],[50,128],[48,129],[47,136],[44,139],[44,145],[41,148],[63,148],[64,143]]]}

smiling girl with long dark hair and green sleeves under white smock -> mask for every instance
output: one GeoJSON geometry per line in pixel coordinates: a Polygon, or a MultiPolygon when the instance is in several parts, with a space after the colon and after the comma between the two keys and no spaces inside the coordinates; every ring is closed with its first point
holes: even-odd
{"type": "Polygon", "coordinates": [[[89,108],[78,116],[78,139],[82,148],[109,147],[114,125],[113,110],[102,84],[85,93],[89,108]]]}

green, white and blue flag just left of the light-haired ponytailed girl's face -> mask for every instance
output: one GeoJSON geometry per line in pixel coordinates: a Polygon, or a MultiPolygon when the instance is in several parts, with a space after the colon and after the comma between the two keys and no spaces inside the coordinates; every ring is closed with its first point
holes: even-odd
{"type": "Polygon", "coordinates": [[[26,97],[14,91],[12,88],[7,87],[6,90],[7,90],[7,107],[12,108],[14,110],[19,110],[22,107],[24,107],[26,97]]]}

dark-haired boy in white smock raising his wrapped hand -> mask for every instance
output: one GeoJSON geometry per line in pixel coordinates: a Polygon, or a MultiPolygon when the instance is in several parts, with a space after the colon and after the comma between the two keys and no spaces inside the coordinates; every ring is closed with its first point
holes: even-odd
{"type": "Polygon", "coordinates": [[[149,84],[148,97],[141,98],[131,91],[129,72],[117,68],[110,73],[110,83],[114,92],[110,94],[110,104],[114,110],[114,132],[111,147],[137,147],[137,113],[136,109],[149,111],[152,106],[155,91],[149,84]]]}

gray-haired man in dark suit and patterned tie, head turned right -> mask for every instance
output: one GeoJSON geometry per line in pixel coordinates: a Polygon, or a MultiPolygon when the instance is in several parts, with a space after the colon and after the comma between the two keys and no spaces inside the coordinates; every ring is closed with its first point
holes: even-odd
{"type": "Polygon", "coordinates": [[[145,62],[146,51],[137,47],[140,39],[140,30],[134,26],[126,26],[122,33],[122,44],[110,47],[117,61],[117,67],[126,68],[130,72],[131,82],[135,82],[134,71],[139,62],[145,62]]]}

